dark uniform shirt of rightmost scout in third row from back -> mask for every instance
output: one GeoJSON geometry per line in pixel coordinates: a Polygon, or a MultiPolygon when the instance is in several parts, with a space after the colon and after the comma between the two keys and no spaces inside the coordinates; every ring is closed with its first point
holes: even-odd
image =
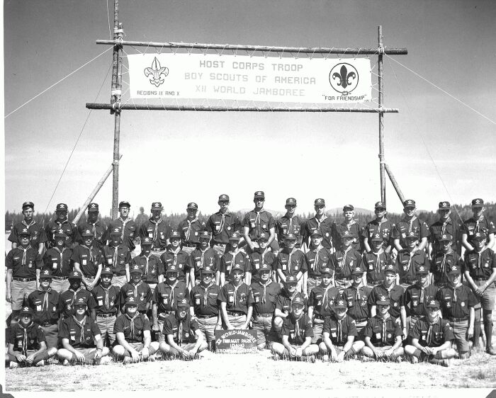
{"type": "Polygon", "coordinates": [[[472,289],[466,285],[459,285],[456,288],[447,285],[444,288],[440,288],[437,291],[436,300],[441,304],[444,319],[468,319],[470,315],[469,307],[475,307],[479,302],[472,289]]]}

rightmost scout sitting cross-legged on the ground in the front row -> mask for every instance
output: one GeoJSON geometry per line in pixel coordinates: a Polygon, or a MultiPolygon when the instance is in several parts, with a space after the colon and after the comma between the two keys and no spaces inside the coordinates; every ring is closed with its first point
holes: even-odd
{"type": "Polygon", "coordinates": [[[451,348],[455,339],[453,328],[446,319],[439,317],[439,301],[429,300],[425,307],[427,315],[410,329],[408,335],[412,344],[405,346],[405,353],[412,357],[412,363],[428,360],[435,365],[449,366],[449,360],[456,356],[451,348]]]}

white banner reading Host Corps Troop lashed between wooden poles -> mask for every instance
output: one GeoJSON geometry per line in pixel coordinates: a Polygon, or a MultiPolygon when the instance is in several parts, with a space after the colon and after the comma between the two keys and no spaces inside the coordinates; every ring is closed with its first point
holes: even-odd
{"type": "Polygon", "coordinates": [[[128,55],[131,98],[293,103],[371,100],[368,58],[128,55]]]}

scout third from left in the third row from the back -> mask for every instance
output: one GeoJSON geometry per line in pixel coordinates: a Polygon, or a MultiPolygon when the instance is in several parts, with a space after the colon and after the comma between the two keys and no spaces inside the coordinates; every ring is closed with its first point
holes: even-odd
{"type": "Polygon", "coordinates": [[[115,341],[113,326],[115,319],[120,315],[120,289],[112,285],[113,269],[105,267],[101,271],[101,282],[93,290],[93,295],[96,302],[96,324],[101,332],[103,342],[106,341],[112,346],[115,341]]]}

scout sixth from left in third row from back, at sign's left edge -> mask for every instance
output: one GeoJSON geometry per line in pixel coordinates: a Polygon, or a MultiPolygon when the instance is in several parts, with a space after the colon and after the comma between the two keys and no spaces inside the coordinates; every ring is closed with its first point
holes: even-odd
{"type": "Polygon", "coordinates": [[[196,317],[198,329],[209,347],[213,347],[215,341],[215,328],[220,330],[222,327],[218,301],[220,287],[215,285],[214,274],[215,270],[210,266],[203,267],[201,283],[193,286],[190,295],[191,317],[196,317]]]}

